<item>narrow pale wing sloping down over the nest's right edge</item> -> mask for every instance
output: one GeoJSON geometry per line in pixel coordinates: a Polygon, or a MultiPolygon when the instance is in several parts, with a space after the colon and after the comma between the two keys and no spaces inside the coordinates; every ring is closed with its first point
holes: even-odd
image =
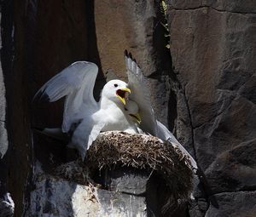
{"type": "Polygon", "coordinates": [[[178,142],[175,136],[169,131],[168,128],[159,121],[157,121],[157,137],[161,140],[169,141],[172,146],[183,151],[183,154],[189,157],[190,163],[193,168],[197,169],[197,163],[195,159],[189,154],[189,152],[178,142]]]}

